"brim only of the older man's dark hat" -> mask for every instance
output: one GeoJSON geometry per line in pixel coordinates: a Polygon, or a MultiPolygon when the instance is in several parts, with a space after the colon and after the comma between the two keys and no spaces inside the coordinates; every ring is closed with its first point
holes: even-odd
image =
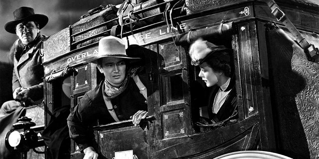
{"type": "Polygon", "coordinates": [[[39,23],[39,29],[42,29],[49,21],[49,18],[43,14],[32,14],[22,19],[9,21],[4,25],[4,29],[12,34],[15,34],[15,26],[23,21],[36,21],[39,23]]]}

